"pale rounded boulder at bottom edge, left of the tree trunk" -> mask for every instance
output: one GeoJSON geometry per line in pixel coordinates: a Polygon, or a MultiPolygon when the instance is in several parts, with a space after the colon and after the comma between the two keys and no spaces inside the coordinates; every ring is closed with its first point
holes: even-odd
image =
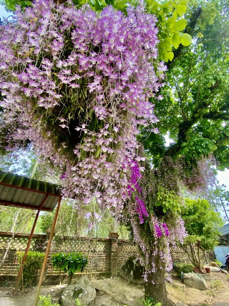
{"type": "Polygon", "coordinates": [[[75,305],[78,298],[81,306],[93,306],[96,298],[96,290],[92,283],[84,276],[76,282],[65,287],[62,292],[61,301],[63,306],[75,305]]]}

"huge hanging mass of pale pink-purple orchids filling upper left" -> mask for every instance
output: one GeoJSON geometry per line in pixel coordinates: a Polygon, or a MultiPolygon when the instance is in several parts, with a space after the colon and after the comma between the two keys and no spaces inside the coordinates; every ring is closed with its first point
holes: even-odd
{"type": "Polygon", "coordinates": [[[140,160],[137,125],[157,132],[149,98],[162,86],[165,66],[157,62],[156,21],[144,7],[128,8],[125,16],[112,7],[97,14],[87,5],[76,9],[70,0],[64,5],[35,0],[32,7],[16,11],[14,22],[0,26],[5,147],[32,142],[43,159],[64,173],[66,196],[85,203],[95,198],[99,205],[122,212],[130,190],[124,169],[140,160]],[[74,102],[87,115],[73,127],[83,137],[69,159],[65,142],[53,144],[43,115],[55,114],[55,122],[68,133],[69,118],[75,116],[75,105],[68,103],[84,92],[81,84],[90,98],[81,106],[80,98],[74,102]],[[56,109],[71,112],[58,116],[56,109]],[[92,112],[103,122],[95,131],[89,129],[92,112]]]}

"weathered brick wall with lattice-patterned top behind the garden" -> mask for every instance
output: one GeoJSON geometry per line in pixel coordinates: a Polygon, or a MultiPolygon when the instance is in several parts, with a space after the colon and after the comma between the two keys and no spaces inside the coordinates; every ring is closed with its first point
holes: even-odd
{"type": "MultiPolygon", "coordinates": [[[[6,285],[14,286],[17,275],[16,251],[23,251],[26,248],[28,234],[17,234],[12,238],[12,233],[0,232],[0,263],[9,248],[8,256],[0,268],[0,287],[6,285]]],[[[31,250],[45,252],[48,241],[47,235],[34,235],[31,242],[31,250]]],[[[117,233],[110,233],[108,239],[96,239],[85,237],[54,237],[51,245],[51,252],[70,252],[77,251],[89,257],[88,267],[84,270],[85,274],[91,275],[112,275],[116,276],[125,261],[137,254],[137,245],[128,240],[120,240],[117,233]]],[[[187,254],[179,246],[172,247],[172,257],[175,262],[189,262],[187,254]]],[[[214,260],[214,254],[207,253],[207,260],[214,260]]],[[[202,260],[206,263],[205,257],[202,260]]],[[[52,270],[50,256],[48,260],[46,279],[51,279],[51,284],[59,282],[58,273],[52,270]]],[[[46,283],[48,285],[48,283],[46,283]]]]}

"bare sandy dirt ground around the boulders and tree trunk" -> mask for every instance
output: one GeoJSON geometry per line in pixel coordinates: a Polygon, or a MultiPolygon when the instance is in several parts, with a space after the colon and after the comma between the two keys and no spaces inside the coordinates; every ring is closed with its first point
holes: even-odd
{"type": "MultiPolygon", "coordinates": [[[[167,293],[177,306],[229,306],[229,280],[225,274],[210,273],[204,275],[208,290],[202,291],[185,286],[178,277],[173,277],[173,283],[167,284],[167,293]]],[[[142,306],[144,287],[133,285],[121,278],[92,279],[97,296],[94,306],[142,306]]],[[[64,286],[42,287],[41,295],[60,296],[64,286]]],[[[4,296],[13,306],[32,306],[36,288],[24,294],[12,296],[12,290],[0,288],[0,297],[4,296]]],[[[1,298],[0,298],[1,299],[1,298]]],[[[1,304],[1,302],[0,302],[1,304]]]]}

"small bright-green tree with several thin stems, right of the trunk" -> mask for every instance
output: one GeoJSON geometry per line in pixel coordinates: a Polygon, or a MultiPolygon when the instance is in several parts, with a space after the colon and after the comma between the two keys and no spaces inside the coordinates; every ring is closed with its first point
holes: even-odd
{"type": "Polygon", "coordinates": [[[181,214],[188,232],[183,248],[191,263],[201,269],[201,259],[205,252],[214,249],[218,244],[218,228],[223,225],[223,220],[204,199],[185,199],[181,214]]]}

